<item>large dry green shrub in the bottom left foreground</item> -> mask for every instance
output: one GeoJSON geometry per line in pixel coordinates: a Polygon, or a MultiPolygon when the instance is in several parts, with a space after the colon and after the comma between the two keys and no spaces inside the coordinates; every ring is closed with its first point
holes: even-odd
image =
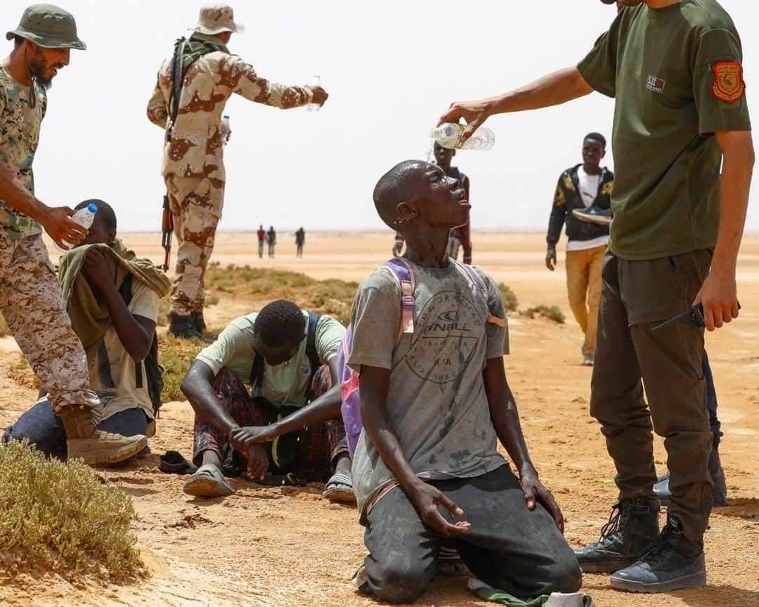
{"type": "Polygon", "coordinates": [[[28,442],[0,446],[0,565],[71,577],[143,572],[131,498],[81,460],[63,463],[28,442]]]}

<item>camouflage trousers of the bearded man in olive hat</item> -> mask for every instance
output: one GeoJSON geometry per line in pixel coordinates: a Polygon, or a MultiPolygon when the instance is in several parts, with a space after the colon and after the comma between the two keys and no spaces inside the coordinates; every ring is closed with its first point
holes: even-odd
{"type": "Polygon", "coordinates": [[[0,237],[0,313],[56,413],[69,404],[99,405],[39,234],[14,241],[0,237]]]}

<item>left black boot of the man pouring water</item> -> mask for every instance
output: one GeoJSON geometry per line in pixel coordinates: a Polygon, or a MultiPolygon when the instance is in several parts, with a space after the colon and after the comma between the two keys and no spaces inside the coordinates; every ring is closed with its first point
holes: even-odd
{"type": "Polygon", "coordinates": [[[575,548],[575,556],[587,574],[613,573],[635,563],[658,536],[659,500],[623,499],[613,505],[597,543],[575,548]]]}

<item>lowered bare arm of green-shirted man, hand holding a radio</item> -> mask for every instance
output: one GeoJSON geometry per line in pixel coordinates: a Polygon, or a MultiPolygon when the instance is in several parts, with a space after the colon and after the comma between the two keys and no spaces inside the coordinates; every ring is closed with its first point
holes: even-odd
{"type": "Polygon", "coordinates": [[[716,140],[723,153],[720,228],[711,272],[694,300],[694,304],[704,305],[704,320],[709,331],[719,329],[723,322],[738,318],[735,266],[738,263],[754,170],[751,131],[717,132],[716,140]]]}

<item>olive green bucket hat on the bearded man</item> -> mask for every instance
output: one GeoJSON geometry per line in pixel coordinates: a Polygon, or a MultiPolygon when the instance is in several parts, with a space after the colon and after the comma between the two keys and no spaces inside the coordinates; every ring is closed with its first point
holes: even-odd
{"type": "Polygon", "coordinates": [[[87,49],[77,37],[74,15],[55,5],[31,5],[15,30],[5,34],[10,40],[21,36],[46,49],[87,49]]]}

